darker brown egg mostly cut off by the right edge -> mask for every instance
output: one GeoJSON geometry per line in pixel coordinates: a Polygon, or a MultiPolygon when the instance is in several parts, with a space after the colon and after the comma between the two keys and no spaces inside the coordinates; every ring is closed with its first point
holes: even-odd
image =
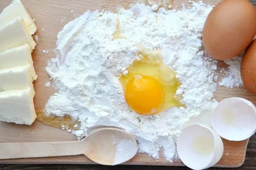
{"type": "Polygon", "coordinates": [[[241,78],[244,86],[256,93],[256,40],[245,50],[241,62],[241,78]]]}

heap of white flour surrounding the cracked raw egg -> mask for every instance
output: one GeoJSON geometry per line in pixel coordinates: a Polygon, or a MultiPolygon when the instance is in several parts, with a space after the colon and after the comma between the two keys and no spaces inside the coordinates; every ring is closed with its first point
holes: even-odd
{"type": "MultiPolygon", "coordinates": [[[[218,103],[213,99],[217,61],[204,55],[201,41],[212,7],[199,2],[181,11],[155,9],[137,3],[120,9],[118,16],[87,11],[64,26],[58,34],[57,57],[47,67],[59,92],[50,97],[46,110],[79,119],[81,130],[74,132],[78,139],[95,127],[120,127],[134,135],[140,152],[158,158],[163,147],[166,159],[172,161],[177,158],[175,142],[189,118],[211,116],[218,103]],[[117,18],[126,39],[113,40],[117,18]],[[128,110],[117,76],[139,59],[136,45],[163,52],[163,61],[182,83],[177,95],[186,108],[153,116],[128,110]]],[[[204,121],[209,124],[210,119],[204,121]]]]}

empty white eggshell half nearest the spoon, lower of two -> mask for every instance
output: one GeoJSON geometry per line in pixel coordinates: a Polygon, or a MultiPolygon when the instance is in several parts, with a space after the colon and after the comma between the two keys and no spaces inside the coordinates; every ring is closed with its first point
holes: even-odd
{"type": "Polygon", "coordinates": [[[178,155],[193,170],[215,165],[222,157],[224,146],[221,137],[211,128],[192,124],[182,129],[177,139],[178,155]]]}

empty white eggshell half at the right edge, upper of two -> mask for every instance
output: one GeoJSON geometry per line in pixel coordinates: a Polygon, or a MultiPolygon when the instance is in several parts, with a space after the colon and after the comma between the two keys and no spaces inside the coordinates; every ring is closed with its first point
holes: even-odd
{"type": "Polygon", "coordinates": [[[243,98],[224,99],[213,111],[212,127],[227,140],[245,140],[256,132],[256,107],[243,98]]]}

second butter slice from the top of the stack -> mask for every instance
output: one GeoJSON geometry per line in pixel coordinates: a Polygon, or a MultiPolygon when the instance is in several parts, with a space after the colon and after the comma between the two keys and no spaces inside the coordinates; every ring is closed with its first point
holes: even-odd
{"type": "Polygon", "coordinates": [[[0,29],[0,52],[24,44],[30,46],[30,52],[35,49],[36,43],[21,17],[0,29]]]}

